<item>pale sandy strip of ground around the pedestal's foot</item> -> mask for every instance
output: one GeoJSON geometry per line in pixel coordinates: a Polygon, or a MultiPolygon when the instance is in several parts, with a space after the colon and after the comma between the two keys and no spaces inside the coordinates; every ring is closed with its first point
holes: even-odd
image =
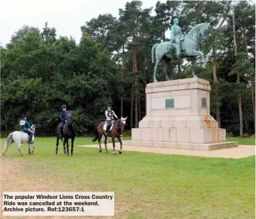
{"type": "MultiPolygon", "coordinates": [[[[89,145],[79,145],[87,147],[99,147],[98,144],[89,144],[89,145]]],[[[101,144],[102,151],[104,151],[104,145],[101,144]]],[[[120,143],[116,142],[116,150],[119,150],[120,143]]],[[[112,143],[108,143],[108,148],[112,149],[112,143]]],[[[123,151],[140,151],[140,152],[154,152],[157,154],[169,154],[169,155],[188,155],[188,156],[197,156],[197,157],[222,157],[222,158],[232,158],[232,159],[241,159],[244,157],[250,157],[255,155],[255,146],[254,145],[239,145],[235,148],[224,148],[219,150],[185,150],[185,149],[173,149],[173,148],[153,148],[147,146],[128,146],[123,145],[123,151]]]]}

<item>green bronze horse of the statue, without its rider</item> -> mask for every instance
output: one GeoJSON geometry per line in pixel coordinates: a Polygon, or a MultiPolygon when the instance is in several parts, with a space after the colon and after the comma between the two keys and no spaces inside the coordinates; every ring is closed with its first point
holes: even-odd
{"type": "MultiPolygon", "coordinates": [[[[194,26],[187,35],[185,35],[184,40],[181,42],[181,58],[190,58],[192,62],[192,74],[194,77],[196,76],[196,56],[201,56],[202,58],[202,67],[206,68],[206,61],[204,59],[204,53],[198,51],[200,42],[200,37],[203,40],[208,40],[210,35],[210,23],[202,23],[194,26]]],[[[171,59],[176,59],[177,55],[175,52],[175,45],[171,42],[161,42],[160,44],[155,44],[152,48],[152,62],[155,62],[154,69],[154,82],[157,82],[157,67],[159,66],[159,62],[163,59],[165,60],[165,78],[169,81],[169,77],[167,72],[169,70],[169,63],[171,59]]]]}

